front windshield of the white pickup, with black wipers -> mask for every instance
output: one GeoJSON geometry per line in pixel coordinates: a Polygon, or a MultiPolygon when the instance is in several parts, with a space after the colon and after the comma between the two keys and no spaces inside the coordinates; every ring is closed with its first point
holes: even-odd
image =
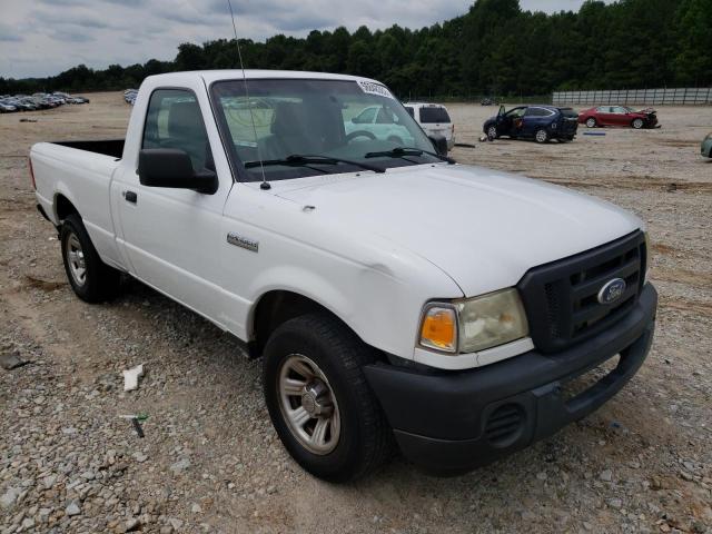
{"type": "Polygon", "coordinates": [[[281,180],[441,161],[426,154],[433,144],[378,83],[253,79],[247,89],[249,100],[244,80],[211,87],[225,145],[248,181],[261,180],[263,170],[267,180],[281,180]]]}

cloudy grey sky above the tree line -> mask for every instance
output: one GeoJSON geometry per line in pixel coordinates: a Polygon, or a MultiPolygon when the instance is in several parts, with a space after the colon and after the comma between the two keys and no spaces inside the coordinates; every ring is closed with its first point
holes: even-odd
{"type": "MultiPolygon", "coordinates": [[[[474,0],[233,0],[240,38],[345,26],[422,28],[467,12],[474,0]]],[[[521,0],[522,9],[578,10],[583,0],[521,0]]],[[[172,60],[181,42],[230,38],[227,0],[0,0],[0,77],[57,75],[172,60]]]]}

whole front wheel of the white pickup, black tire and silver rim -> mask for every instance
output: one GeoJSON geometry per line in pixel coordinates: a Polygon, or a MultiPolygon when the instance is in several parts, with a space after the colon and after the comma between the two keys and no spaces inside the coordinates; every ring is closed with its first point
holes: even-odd
{"type": "Polygon", "coordinates": [[[271,422],[291,457],[330,482],[379,467],[393,433],[363,373],[374,352],[328,315],[280,325],[264,353],[263,386],[271,422]]]}

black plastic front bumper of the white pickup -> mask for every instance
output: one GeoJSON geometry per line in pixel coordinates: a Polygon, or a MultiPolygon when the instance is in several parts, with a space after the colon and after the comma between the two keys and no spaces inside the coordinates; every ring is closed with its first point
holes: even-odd
{"type": "Polygon", "coordinates": [[[403,454],[425,471],[456,475],[493,462],[581,419],[615,395],[645,360],[657,293],[647,284],[613,327],[570,349],[531,350],[478,369],[418,373],[365,368],[403,454]],[[562,387],[620,354],[592,387],[565,398],[562,387]]]}

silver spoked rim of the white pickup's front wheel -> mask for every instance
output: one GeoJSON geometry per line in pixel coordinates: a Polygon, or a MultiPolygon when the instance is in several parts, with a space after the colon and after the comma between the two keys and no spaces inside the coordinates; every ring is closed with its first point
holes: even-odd
{"type": "Polygon", "coordinates": [[[340,413],[324,372],[301,354],[290,354],[277,375],[279,409],[289,432],[307,451],[326,455],[338,445],[340,413]]]}

